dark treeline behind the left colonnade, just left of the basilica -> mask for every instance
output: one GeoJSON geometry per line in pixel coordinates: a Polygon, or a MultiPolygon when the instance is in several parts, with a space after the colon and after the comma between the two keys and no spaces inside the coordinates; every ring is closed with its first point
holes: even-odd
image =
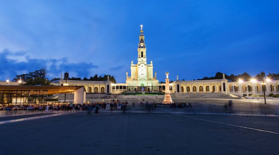
{"type": "MultiPolygon", "coordinates": [[[[112,82],[112,83],[116,83],[116,80],[113,76],[111,75],[104,75],[103,77],[100,75],[98,76],[97,74],[95,74],[93,77],[91,76],[90,78],[86,78],[84,77],[83,79],[82,78],[79,78],[79,77],[72,77],[72,78],[68,78],[67,80],[76,80],[76,81],[107,81],[108,80],[108,76],[109,76],[109,81],[112,82]]],[[[51,79],[51,81],[55,81],[55,80],[60,80],[61,78],[53,78],[51,79]]],[[[64,78],[65,80],[65,78],[64,78]]]]}

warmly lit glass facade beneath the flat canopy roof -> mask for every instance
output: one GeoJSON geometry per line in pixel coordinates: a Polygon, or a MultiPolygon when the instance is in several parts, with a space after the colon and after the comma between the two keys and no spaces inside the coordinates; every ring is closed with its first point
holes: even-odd
{"type": "Polygon", "coordinates": [[[46,104],[47,90],[0,91],[0,104],[46,104]]]}

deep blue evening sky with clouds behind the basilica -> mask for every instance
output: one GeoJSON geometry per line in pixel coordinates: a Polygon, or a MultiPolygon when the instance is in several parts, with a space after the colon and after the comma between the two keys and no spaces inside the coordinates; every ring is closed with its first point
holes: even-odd
{"type": "Polygon", "coordinates": [[[114,75],[137,62],[140,24],[157,79],[279,70],[279,1],[0,1],[0,80],[114,75]]]}

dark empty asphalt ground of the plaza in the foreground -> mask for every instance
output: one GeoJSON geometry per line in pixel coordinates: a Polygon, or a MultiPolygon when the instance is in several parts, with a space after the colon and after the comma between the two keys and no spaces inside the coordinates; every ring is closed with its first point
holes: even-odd
{"type": "Polygon", "coordinates": [[[0,154],[277,155],[279,152],[279,135],[264,132],[278,133],[279,117],[181,115],[102,111],[88,116],[80,112],[0,124],[0,154]]]}

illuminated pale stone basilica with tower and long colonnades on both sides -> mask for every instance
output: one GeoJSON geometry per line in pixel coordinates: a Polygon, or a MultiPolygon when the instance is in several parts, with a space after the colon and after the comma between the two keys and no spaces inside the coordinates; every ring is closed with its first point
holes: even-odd
{"type": "MultiPolygon", "coordinates": [[[[158,83],[156,72],[153,73],[153,62],[147,61],[147,50],[143,25],[140,25],[139,44],[137,49],[137,63],[131,61],[131,73],[126,72],[126,83],[112,83],[106,81],[73,81],[56,80],[53,85],[84,86],[87,93],[112,93],[112,94],[135,94],[135,93],[163,93],[166,90],[165,83],[158,83]]],[[[63,78],[61,78],[63,79],[63,78]]],[[[251,81],[229,82],[224,74],[222,79],[217,80],[194,80],[182,81],[178,75],[174,82],[169,84],[170,93],[224,93],[237,96],[263,95],[263,85],[266,85],[266,93],[278,94],[279,80],[266,82],[251,81]]]]}

